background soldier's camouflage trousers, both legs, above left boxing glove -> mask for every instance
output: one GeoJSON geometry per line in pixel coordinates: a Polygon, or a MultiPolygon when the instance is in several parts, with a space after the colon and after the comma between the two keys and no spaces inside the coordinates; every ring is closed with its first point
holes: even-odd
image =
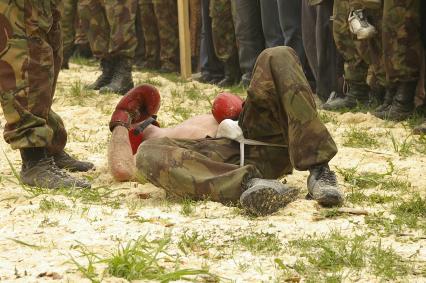
{"type": "Polygon", "coordinates": [[[93,55],[133,58],[137,0],[80,0],[78,13],[93,55]]]}

